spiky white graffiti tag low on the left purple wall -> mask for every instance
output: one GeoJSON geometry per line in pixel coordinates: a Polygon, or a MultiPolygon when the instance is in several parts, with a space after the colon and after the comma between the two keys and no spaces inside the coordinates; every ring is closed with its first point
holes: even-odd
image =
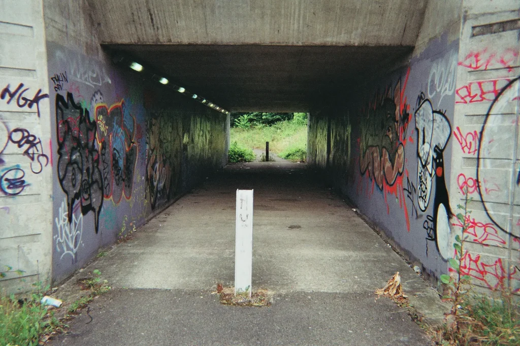
{"type": "Polygon", "coordinates": [[[56,240],[56,251],[61,252],[60,259],[65,255],[71,255],[72,259],[76,259],[76,251],[81,244],[81,235],[83,233],[83,215],[72,214],[72,222],[69,223],[69,208],[67,198],[61,202],[58,209],[58,217],[55,219],[58,234],[54,236],[56,240]]]}

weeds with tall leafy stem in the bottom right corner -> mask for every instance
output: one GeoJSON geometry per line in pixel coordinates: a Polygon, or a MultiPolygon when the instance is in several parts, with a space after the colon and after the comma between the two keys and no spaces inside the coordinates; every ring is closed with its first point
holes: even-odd
{"type": "MultiPolygon", "coordinates": [[[[467,190],[467,189],[466,189],[467,190]]],[[[501,286],[491,296],[476,295],[470,290],[469,275],[461,272],[464,256],[465,231],[470,227],[467,216],[467,197],[457,218],[463,224],[460,235],[455,237],[455,257],[449,259],[451,275],[443,274],[440,281],[448,294],[443,299],[451,303],[445,324],[434,330],[433,339],[439,345],[520,345],[520,305],[511,290],[501,286]]]]}

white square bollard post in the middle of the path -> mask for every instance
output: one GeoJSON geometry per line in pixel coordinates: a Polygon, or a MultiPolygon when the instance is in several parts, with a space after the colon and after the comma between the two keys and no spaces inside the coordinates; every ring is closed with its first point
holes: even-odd
{"type": "Polygon", "coordinates": [[[253,190],[237,190],[235,242],[235,296],[246,292],[251,298],[253,273],[253,190]]]}

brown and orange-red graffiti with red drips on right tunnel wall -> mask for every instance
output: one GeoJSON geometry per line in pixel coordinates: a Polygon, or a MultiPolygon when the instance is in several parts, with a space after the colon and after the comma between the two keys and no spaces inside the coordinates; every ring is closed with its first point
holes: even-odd
{"type": "Polygon", "coordinates": [[[410,122],[410,114],[401,105],[401,83],[381,98],[369,104],[361,122],[359,169],[368,171],[380,189],[383,183],[393,185],[405,165],[405,148],[402,143],[410,122]]]}

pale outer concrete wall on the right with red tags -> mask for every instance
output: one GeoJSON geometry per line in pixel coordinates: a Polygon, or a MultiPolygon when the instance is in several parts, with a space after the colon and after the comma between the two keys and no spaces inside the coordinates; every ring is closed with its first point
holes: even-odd
{"type": "MultiPolygon", "coordinates": [[[[473,198],[462,271],[520,290],[518,191],[520,1],[463,2],[452,123],[451,204],[473,198]]],[[[452,231],[461,222],[453,220],[452,231]]]]}

